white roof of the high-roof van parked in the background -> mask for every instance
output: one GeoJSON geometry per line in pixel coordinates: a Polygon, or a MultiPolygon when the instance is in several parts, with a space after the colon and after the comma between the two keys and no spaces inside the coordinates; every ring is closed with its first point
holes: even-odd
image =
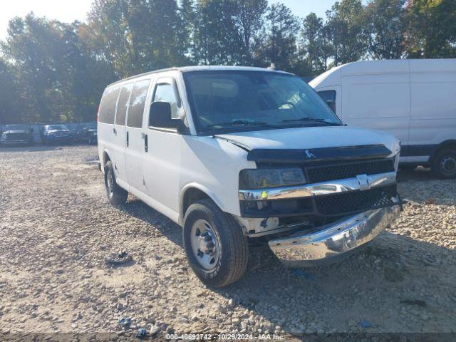
{"type": "Polygon", "coordinates": [[[358,61],[336,66],[314,78],[309,84],[318,86],[323,81],[331,86],[341,82],[343,76],[379,73],[430,73],[456,72],[456,58],[435,59],[390,59],[381,61],[358,61]]]}

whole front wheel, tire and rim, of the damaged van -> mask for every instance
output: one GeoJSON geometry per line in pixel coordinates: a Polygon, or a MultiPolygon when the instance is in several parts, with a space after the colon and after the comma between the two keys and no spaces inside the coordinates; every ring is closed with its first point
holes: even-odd
{"type": "Polygon", "coordinates": [[[183,240],[190,266],[208,286],[232,284],[247,269],[247,237],[239,224],[210,199],[195,202],[187,209],[183,240]]]}

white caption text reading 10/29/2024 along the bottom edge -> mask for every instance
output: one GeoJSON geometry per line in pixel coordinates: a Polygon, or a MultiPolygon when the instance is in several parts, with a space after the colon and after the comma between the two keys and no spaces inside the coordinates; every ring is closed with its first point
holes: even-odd
{"type": "Polygon", "coordinates": [[[166,339],[184,341],[284,341],[285,336],[274,333],[167,333],[166,339]]]}

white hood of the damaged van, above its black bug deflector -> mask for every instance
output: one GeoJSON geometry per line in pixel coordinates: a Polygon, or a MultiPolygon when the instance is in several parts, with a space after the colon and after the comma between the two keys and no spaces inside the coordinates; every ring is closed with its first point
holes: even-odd
{"type": "Polygon", "coordinates": [[[215,135],[244,150],[314,150],[333,147],[383,146],[388,155],[400,150],[399,141],[388,133],[348,126],[318,126],[257,130],[215,135]]]}

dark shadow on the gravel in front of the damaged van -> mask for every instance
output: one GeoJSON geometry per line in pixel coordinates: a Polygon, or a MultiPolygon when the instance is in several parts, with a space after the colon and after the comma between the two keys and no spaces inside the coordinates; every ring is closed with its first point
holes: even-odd
{"type": "Polygon", "coordinates": [[[257,265],[243,279],[214,291],[292,334],[456,326],[455,250],[384,232],[339,264],[286,269],[271,252],[251,258],[257,265]]]}

